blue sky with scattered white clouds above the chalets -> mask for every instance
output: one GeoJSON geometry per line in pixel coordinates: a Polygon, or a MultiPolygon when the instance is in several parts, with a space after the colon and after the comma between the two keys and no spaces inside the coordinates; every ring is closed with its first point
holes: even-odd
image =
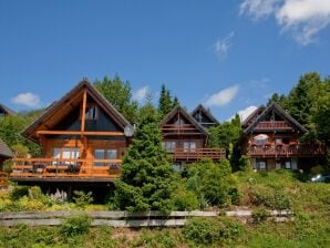
{"type": "Polygon", "coordinates": [[[118,74],[141,102],[164,83],[225,121],[328,76],[329,58],[329,0],[0,0],[0,103],[16,111],[118,74]]]}

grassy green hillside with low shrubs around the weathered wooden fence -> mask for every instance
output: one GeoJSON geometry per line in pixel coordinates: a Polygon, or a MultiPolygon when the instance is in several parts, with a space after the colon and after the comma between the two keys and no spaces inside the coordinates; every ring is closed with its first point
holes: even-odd
{"type": "MultiPolygon", "coordinates": [[[[219,216],[192,218],[183,228],[114,229],[89,227],[86,217],[73,217],[60,227],[1,227],[0,247],[328,247],[330,187],[301,183],[297,176],[299,174],[287,170],[234,174],[239,195],[236,205],[254,209],[252,218],[246,224],[219,216]],[[275,223],[267,218],[266,210],[275,208],[291,209],[293,219],[275,223]]],[[[27,210],[51,210],[54,206],[93,209],[93,205],[76,203],[50,206],[47,196],[40,195],[35,188],[33,190],[23,197],[1,193],[0,206],[6,202],[9,205],[25,203],[27,210]],[[27,197],[29,200],[24,199],[27,197]]],[[[236,207],[227,205],[223,209],[236,207]]]]}

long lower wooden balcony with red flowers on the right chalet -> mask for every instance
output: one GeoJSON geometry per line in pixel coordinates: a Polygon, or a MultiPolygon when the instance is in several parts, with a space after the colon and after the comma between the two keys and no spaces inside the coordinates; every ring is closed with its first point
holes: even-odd
{"type": "Polygon", "coordinates": [[[327,155],[323,144],[271,144],[265,146],[249,146],[250,157],[322,157],[327,155]]]}

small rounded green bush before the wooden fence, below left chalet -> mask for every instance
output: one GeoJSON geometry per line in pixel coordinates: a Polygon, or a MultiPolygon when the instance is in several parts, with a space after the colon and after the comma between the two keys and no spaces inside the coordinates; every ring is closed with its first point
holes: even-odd
{"type": "Polygon", "coordinates": [[[91,219],[89,216],[73,216],[65,219],[61,226],[61,235],[64,239],[72,238],[76,235],[86,234],[90,229],[91,219]]]}

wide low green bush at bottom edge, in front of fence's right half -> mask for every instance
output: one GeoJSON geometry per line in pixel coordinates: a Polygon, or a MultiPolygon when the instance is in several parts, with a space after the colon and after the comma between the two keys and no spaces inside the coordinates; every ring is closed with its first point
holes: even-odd
{"type": "Polygon", "coordinates": [[[183,229],[185,239],[196,245],[230,242],[243,232],[244,226],[240,223],[226,217],[192,218],[183,229]]]}

